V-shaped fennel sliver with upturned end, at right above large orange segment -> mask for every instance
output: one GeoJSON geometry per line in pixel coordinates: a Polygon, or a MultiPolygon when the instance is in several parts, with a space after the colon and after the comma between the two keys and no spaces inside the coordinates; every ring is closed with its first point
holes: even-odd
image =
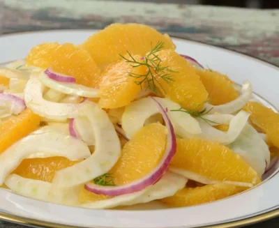
{"type": "Polygon", "coordinates": [[[229,130],[227,132],[223,132],[216,128],[213,128],[209,123],[198,119],[199,126],[202,128],[202,134],[197,135],[200,139],[206,139],[213,142],[218,142],[223,145],[230,144],[234,142],[234,140],[239,137],[241,131],[245,127],[248,118],[248,112],[240,111],[236,116],[232,118],[232,121],[229,123],[229,130]]]}

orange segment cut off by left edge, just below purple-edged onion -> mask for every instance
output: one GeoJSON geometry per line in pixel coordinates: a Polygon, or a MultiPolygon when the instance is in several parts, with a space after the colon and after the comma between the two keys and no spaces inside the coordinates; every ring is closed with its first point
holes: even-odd
{"type": "Polygon", "coordinates": [[[12,116],[0,124],[0,154],[9,146],[29,135],[40,124],[40,116],[25,109],[21,114],[12,116]]]}

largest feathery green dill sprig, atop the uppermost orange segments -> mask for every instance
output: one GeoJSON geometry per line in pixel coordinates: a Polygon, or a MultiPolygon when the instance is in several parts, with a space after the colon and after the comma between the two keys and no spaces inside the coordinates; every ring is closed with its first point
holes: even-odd
{"type": "Polygon", "coordinates": [[[152,47],[151,44],[151,51],[145,57],[141,58],[141,61],[137,61],[130,52],[127,51],[128,56],[130,59],[126,58],[125,56],[120,56],[126,60],[127,63],[131,63],[130,66],[133,68],[139,66],[146,66],[147,73],[145,75],[137,75],[135,73],[128,73],[129,76],[135,77],[137,80],[135,84],[140,85],[141,89],[146,84],[146,90],[150,89],[154,93],[158,93],[157,87],[159,86],[164,93],[165,89],[163,88],[162,84],[158,81],[158,77],[163,79],[167,84],[170,82],[174,82],[172,78],[174,70],[169,69],[169,66],[162,66],[162,60],[159,58],[157,52],[159,52],[164,47],[164,42],[158,42],[155,47],[152,47]]]}

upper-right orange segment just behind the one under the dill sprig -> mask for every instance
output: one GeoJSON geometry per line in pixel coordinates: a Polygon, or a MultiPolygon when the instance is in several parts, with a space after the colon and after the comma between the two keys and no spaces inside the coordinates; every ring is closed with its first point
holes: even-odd
{"type": "Polygon", "coordinates": [[[202,83],[209,92],[211,105],[223,105],[239,97],[239,92],[234,89],[232,81],[226,75],[212,70],[197,70],[202,83]]]}

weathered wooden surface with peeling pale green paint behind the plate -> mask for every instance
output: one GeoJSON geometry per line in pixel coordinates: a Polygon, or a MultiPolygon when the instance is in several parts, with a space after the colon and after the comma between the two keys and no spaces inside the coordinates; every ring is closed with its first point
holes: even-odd
{"type": "MultiPolygon", "coordinates": [[[[279,66],[279,10],[135,1],[0,0],[0,34],[103,29],[114,22],[148,24],[171,36],[218,45],[279,66]]],[[[3,227],[22,226],[0,221],[3,227]]],[[[279,218],[249,227],[279,227],[279,218]]]]}

